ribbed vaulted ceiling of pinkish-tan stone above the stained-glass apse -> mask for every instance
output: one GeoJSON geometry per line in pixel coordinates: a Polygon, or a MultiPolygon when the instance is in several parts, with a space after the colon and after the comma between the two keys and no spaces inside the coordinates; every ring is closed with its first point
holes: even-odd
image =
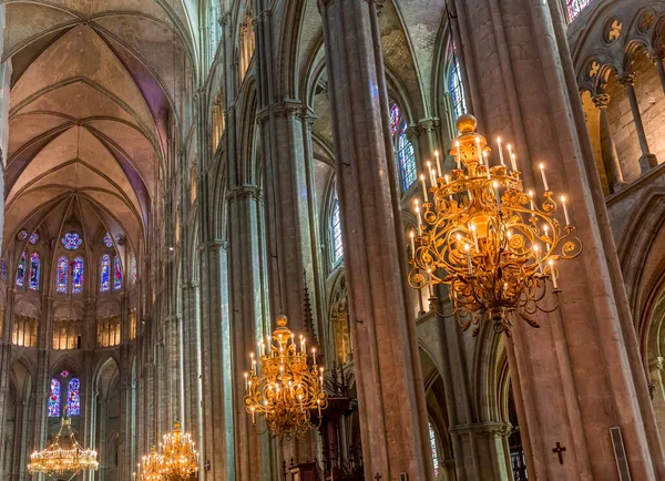
{"type": "Polygon", "coordinates": [[[4,238],[58,238],[76,219],[86,236],[124,234],[136,248],[186,115],[196,2],[0,4],[12,65],[4,238]]]}

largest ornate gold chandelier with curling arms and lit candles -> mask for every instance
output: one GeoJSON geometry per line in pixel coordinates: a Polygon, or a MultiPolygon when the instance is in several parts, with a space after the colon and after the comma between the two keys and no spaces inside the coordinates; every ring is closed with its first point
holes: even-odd
{"type": "Polygon", "coordinates": [[[540,164],[545,192],[539,199],[533,191],[524,192],[516,166],[516,154],[508,145],[511,168],[505,165],[501,140],[498,139],[500,162],[490,166],[487,140],[475,132],[477,120],[461,115],[457,121],[460,135],[450,152],[457,168],[443,175],[429,164],[430,188],[426,175],[420,175],[424,202],[416,201],[418,232],[411,232],[411,270],[409,284],[420,289],[429,286],[449,287],[452,311],[467,330],[492,319],[498,332],[510,336],[510,314],[533,327],[536,311],[545,307],[548,291],[559,295],[556,263],[571,259],[582,252],[570,223],[566,198],[554,199],[545,166],[540,164]],[[430,195],[431,194],[431,195],[430,195]],[[555,217],[563,208],[565,225],[555,217]]]}

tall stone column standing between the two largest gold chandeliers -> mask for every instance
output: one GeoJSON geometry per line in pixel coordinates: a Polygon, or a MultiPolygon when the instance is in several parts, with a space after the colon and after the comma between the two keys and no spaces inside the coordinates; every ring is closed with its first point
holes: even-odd
{"type": "Polygon", "coordinates": [[[392,155],[379,9],[319,0],[365,479],[433,481],[392,155]],[[354,119],[354,122],[349,122],[354,119]]]}

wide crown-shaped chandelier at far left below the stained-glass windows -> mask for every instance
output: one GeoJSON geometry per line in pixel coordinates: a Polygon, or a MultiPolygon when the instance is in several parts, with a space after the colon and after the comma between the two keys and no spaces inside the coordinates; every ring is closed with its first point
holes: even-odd
{"type": "Polygon", "coordinates": [[[72,480],[82,471],[96,471],[96,451],[84,449],[74,437],[72,421],[62,418],[60,430],[51,446],[30,454],[28,471],[31,474],[45,474],[53,479],[72,480]],[[66,441],[65,441],[66,440],[66,441]]]}

